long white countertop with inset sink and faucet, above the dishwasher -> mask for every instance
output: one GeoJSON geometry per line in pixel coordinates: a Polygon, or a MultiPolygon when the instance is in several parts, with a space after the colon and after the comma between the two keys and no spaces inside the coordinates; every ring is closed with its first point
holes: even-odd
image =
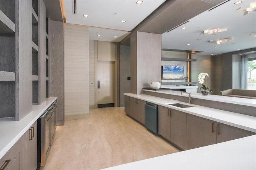
{"type": "Polygon", "coordinates": [[[188,105],[188,104],[184,102],[177,102],[172,99],[164,99],[161,97],[155,97],[151,95],[136,95],[133,93],[125,93],[124,95],[141,99],[144,101],[152,102],[157,105],[162,105],[164,107],[168,107],[168,108],[182,111],[185,113],[189,113],[191,115],[210,119],[212,121],[217,121],[219,123],[224,123],[226,125],[230,125],[233,127],[242,128],[244,130],[249,130],[251,132],[256,132],[256,117],[253,117],[253,116],[243,115],[240,113],[233,113],[229,111],[223,111],[219,109],[213,109],[209,107],[203,107],[199,105],[191,105],[193,107],[180,108],[180,107],[176,107],[168,104],[171,104],[171,103],[182,103],[185,105],[188,105]]]}

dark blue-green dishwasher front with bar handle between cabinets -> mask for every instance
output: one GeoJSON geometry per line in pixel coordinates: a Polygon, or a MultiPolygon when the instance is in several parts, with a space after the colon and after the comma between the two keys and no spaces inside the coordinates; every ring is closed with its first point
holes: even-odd
{"type": "Polygon", "coordinates": [[[158,105],[145,103],[145,127],[155,134],[158,133],[158,105]]]}

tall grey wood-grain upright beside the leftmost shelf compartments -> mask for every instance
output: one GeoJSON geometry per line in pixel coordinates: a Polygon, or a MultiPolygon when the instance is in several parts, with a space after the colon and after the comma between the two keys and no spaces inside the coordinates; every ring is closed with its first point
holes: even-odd
{"type": "Polygon", "coordinates": [[[16,121],[32,110],[32,1],[17,1],[16,121]],[[17,25],[18,23],[18,25],[17,25]]]}

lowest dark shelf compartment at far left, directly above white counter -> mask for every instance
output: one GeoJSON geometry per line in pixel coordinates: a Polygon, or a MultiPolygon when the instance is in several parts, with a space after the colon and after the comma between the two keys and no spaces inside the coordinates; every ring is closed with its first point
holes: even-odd
{"type": "Polygon", "coordinates": [[[0,118],[15,117],[15,81],[0,81],[0,118]]]}

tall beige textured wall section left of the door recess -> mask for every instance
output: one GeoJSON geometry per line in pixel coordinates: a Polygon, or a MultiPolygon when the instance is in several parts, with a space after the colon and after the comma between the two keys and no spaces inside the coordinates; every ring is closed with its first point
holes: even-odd
{"type": "Polygon", "coordinates": [[[66,120],[89,115],[87,26],[64,24],[64,110],[66,120]]]}

